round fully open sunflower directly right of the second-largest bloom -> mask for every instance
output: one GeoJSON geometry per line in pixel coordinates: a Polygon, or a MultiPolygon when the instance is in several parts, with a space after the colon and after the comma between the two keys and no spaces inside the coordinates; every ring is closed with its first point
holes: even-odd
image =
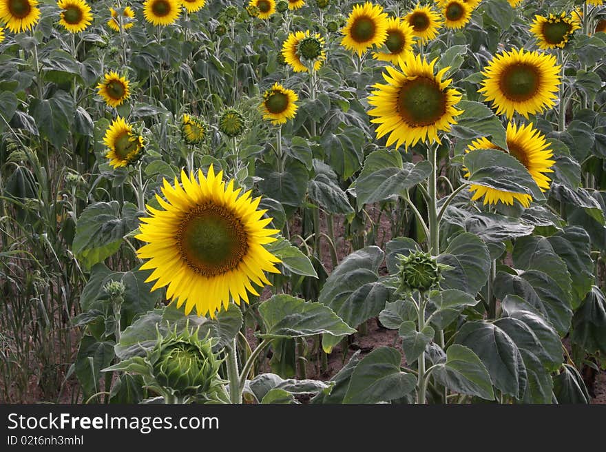
{"type": "Polygon", "coordinates": [[[478,91],[492,101],[497,114],[510,119],[514,112],[525,118],[555,105],[560,85],[556,57],[540,52],[512,50],[494,56],[482,72],[485,79],[478,91]]]}

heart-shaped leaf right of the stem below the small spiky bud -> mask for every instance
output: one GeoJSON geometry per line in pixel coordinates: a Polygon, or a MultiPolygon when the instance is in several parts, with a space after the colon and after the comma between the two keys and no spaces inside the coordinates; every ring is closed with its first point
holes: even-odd
{"type": "Polygon", "coordinates": [[[461,394],[494,400],[490,375],[472,349],[453,344],[446,350],[446,362],[432,371],[443,386],[461,394]]]}

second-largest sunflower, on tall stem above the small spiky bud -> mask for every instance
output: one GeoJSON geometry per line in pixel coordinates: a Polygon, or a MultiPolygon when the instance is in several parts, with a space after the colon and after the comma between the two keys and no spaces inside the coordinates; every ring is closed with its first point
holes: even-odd
{"type": "Polygon", "coordinates": [[[390,134],[387,145],[402,143],[415,145],[418,141],[437,141],[439,130],[448,132],[450,125],[456,124],[455,116],[461,114],[454,105],[461,100],[461,94],[448,85],[442,77],[448,69],[443,68],[434,75],[437,59],[427,63],[421,56],[408,53],[399,60],[399,70],[387,67],[383,78],[387,84],[377,83],[368,103],[373,110],[368,114],[377,116],[370,122],[378,123],[377,138],[390,134]]]}

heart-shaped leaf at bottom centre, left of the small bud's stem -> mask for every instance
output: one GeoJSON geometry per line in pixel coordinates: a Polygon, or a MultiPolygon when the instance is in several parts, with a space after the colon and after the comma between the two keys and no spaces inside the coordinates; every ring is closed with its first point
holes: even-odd
{"type": "Polygon", "coordinates": [[[402,356],[392,347],[379,347],[360,361],[351,375],[343,403],[379,403],[413,391],[417,379],[400,371],[402,356]]]}

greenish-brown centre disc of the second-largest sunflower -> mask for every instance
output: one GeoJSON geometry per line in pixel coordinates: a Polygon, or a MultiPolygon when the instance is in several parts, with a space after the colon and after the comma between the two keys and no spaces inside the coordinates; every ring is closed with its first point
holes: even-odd
{"type": "Polygon", "coordinates": [[[446,113],[446,94],[432,79],[418,77],[400,89],[397,108],[409,125],[434,124],[446,113]]]}

